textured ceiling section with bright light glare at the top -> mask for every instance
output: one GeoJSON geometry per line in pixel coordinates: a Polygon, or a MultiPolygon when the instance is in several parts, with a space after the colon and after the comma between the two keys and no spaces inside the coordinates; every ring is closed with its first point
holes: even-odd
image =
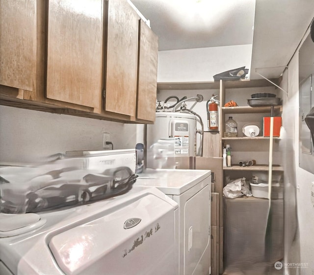
{"type": "Polygon", "coordinates": [[[131,0],[159,51],[252,44],[255,0],[131,0]]]}

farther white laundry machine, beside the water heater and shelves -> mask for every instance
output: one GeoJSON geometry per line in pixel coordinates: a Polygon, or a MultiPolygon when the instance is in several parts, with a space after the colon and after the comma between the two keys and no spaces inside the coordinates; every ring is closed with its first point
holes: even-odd
{"type": "Polygon", "coordinates": [[[135,183],[157,187],[179,204],[180,275],[210,274],[210,183],[210,170],[179,169],[147,169],[135,183]]]}

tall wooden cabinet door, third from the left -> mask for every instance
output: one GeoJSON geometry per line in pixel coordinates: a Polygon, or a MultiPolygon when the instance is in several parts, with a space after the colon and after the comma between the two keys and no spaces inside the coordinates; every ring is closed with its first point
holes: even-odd
{"type": "Polygon", "coordinates": [[[108,0],[105,110],[135,116],[138,15],[127,0],[108,0]]]}

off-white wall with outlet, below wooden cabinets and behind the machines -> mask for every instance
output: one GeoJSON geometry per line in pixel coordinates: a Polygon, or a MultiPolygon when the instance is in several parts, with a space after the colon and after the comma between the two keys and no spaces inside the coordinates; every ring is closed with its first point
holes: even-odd
{"type": "Polygon", "coordinates": [[[0,162],[38,162],[56,153],[135,148],[136,126],[105,120],[0,106],[0,162]]]}

